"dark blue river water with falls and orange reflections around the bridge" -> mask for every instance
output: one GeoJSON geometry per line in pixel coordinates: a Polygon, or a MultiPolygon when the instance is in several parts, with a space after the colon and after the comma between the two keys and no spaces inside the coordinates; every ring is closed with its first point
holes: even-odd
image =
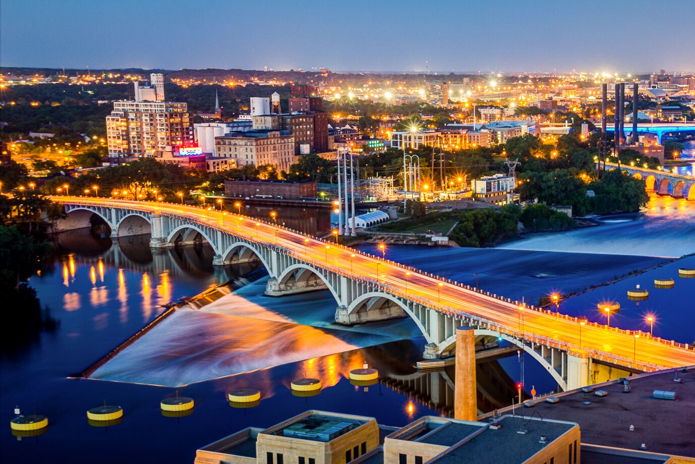
{"type": "MultiPolygon", "coordinates": [[[[536,303],[551,291],[583,291],[668,262],[665,257],[695,253],[694,211],[693,202],[653,197],[643,214],[607,217],[599,227],[532,236],[500,248],[391,246],[386,253],[536,303]],[[660,245],[658,234],[667,244],[660,245]]],[[[67,378],[136,333],[163,311],[161,305],[230,278],[239,282],[239,276],[250,271],[213,269],[212,250],[206,246],[153,255],[147,241],[131,237],[112,243],[84,232],[64,234],[54,268],[31,280],[59,324],[28,348],[3,353],[0,422],[7,424],[18,405],[26,413],[35,409],[47,415],[50,425],[43,435],[22,440],[8,429],[0,433],[0,461],[86,462],[99,456],[106,463],[191,463],[195,449],[224,435],[246,426],[270,426],[309,408],[369,415],[396,426],[420,415],[452,413],[452,375],[414,371],[424,339],[409,319],[336,326],[336,303],[328,291],[263,296],[267,277],[262,271],[252,273],[253,282],[234,287],[202,309],[175,312],[99,367],[92,378],[67,378]],[[379,369],[381,383],[350,385],[347,372],[363,363],[379,369]],[[294,397],[288,385],[301,376],[320,378],[321,394],[294,397]],[[225,395],[238,387],[261,390],[261,406],[231,408],[225,395]],[[158,402],[177,390],[195,399],[194,413],[163,417],[158,402]],[[123,406],[122,424],[89,426],[85,410],[104,400],[123,406]]],[[[372,245],[361,248],[374,250],[372,245]]],[[[695,267],[694,257],[684,261],[695,267]]],[[[649,285],[655,275],[677,275],[678,265],[665,264],[587,291],[563,301],[561,309],[601,320],[596,303],[617,299],[623,310],[612,317],[612,325],[646,330],[644,315],[654,312],[655,335],[692,342],[695,316],[689,302],[695,279],[676,277],[676,286],[667,290],[649,285]],[[649,300],[639,306],[623,298],[637,283],[651,290],[649,300]]],[[[526,390],[532,385],[539,392],[556,387],[528,356],[524,365],[526,390]]],[[[513,356],[479,365],[477,375],[479,406],[490,410],[511,401],[521,368],[513,356]]]]}

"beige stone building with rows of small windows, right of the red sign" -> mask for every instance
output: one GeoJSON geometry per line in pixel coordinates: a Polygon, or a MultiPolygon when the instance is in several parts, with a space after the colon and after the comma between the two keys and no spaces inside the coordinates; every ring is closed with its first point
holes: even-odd
{"type": "Polygon", "coordinates": [[[288,131],[253,129],[215,137],[215,154],[234,158],[236,166],[273,166],[288,170],[296,162],[295,138],[288,131]]]}

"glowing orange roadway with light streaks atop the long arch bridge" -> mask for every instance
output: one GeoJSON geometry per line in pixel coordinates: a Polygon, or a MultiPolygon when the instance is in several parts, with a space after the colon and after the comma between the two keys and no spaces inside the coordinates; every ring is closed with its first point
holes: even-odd
{"type": "Polygon", "coordinates": [[[231,211],[224,214],[217,209],[108,198],[56,196],[51,199],[185,216],[231,235],[279,246],[297,258],[304,257],[314,266],[337,268],[355,277],[378,281],[384,286],[384,291],[435,310],[480,318],[489,330],[516,339],[523,338],[526,342],[550,342],[574,355],[603,359],[637,370],[695,365],[692,346],[653,338],[641,331],[607,328],[597,323],[582,325],[580,319],[575,317],[520,305],[502,296],[476,291],[430,273],[288,230],[275,223],[239,216],[231,211]]]}

